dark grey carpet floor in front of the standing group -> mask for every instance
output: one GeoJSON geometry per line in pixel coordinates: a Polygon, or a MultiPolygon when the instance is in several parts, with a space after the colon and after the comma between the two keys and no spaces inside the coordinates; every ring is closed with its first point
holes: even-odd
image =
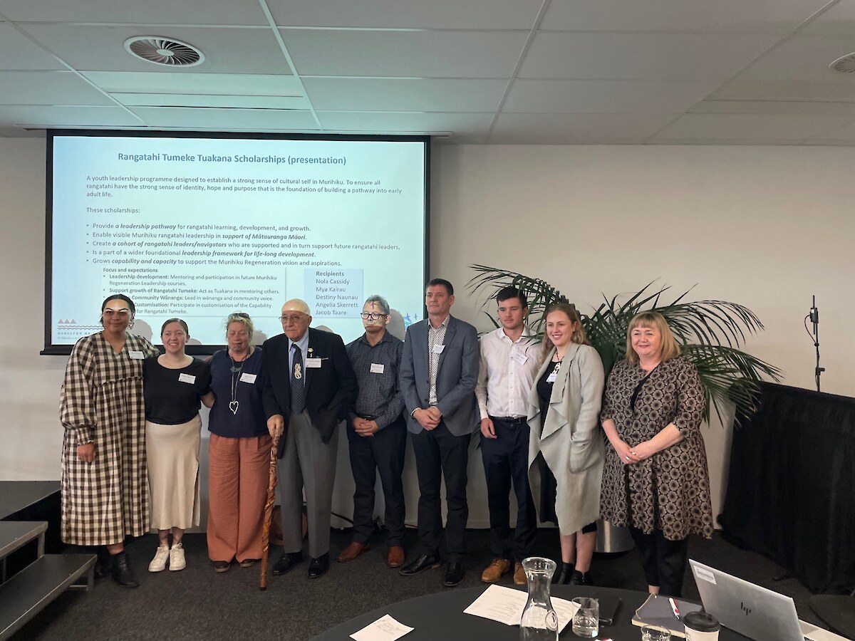
{"type": "MultiPolygon", "coordinates": [[[[267,591],[258,589],[258,567],[233,565],[215,573],[203,535],[187,535],[187,567],[180,572],[146,571],[156,549],[154,535],[127,545],[140,586],[122,589],[111,579],[98,579],[94,591],[67,592],[21,628],[13,641],[94,641],[96,639],[309,639],[356,615],[388,603],[442,591],[442,570],[404,578],[386,567],[381,542],[354,562],[337,563],[334,556],[350,542],[349,532],[333,531],[332,567],[321,579],[309,579],[308,562],[284,576],[268,577],[267,591]]],[[[407,532],[408,550],[416,547],[416,532],[407,532]]],[[[469,556],[461,587],[481,584],[481,571],[490,560],[489,532],[467,532],[469,556]]],[[[536,552],[558,556],[555,530],[540,530],[536,552]]],[[[271,550],[271,565],[280,549],[271,550]]],[[[716,533],[711,541],[693,538],[689,556],[743,579],[793,597],[799,616],[819,624],[807,606],[811,593],[797,579],[774,579],[783,571],[764,556],[740,550],[716,533]]],[[[593,563],[596,585],[646,591],[635,550],[598,555],[593,563]]],[[[510,585],[510,575],[504,578],[510,585]]],[[[453,589],[453,588],[452,588],[453,589]]],[[[699,600],[691,573],[684,595],[699,600]]]]}

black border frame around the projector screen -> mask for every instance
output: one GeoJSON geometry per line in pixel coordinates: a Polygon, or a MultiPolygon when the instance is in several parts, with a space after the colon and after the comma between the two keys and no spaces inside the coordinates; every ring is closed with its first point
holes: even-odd
{"type": "MultiPolygon", "coordinates": [[[[45,153],[45,231],[44,231],[44,349],[41,356],[68,356],[73,344],[54,344],[52,341],[53,309],[53,199],[54,199],[54,138],[63,137],[104,137],[104,138],[213,138],[213,139],[256,139],[256,140],[318,140],[318,141],[382,141],[382,142],[419,142],[424,150],[424,273],[422,282],[427,283],[430,274],[430,174],[431,174],[431,137],[417,135],[368,135],[368,134],[327,134],[327,133],[279,133],[279,132],[198,132],[169,130],[124,130],[124,129],[47,129],[45,153]]],[[[121,294],[121,291],[112,292],[121,294]]],[[[284,301],[282,301],[284,303],[284,301]]],[[[97,309],[92,315],[97,315],[97,309]]],[[[422,317],[426,309],[422,299],[422,317]]],[[[156,328],[152,328],[156,331],[156,328]]],[[[223,332],[225,335],[225,332],[223,332]]],[[[160,337],[152,336],[152,343],[159,345],[160,337]]],[[[345,337],[346,338],[346,337],[345,337]]],[[[187,344],[186,353],[192,356],[209,356],[217,350],[225,349],[225,344],[187,344]]]]}

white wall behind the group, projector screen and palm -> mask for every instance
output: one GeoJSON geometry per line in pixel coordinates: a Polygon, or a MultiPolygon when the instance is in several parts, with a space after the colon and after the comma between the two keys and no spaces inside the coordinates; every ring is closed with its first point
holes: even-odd
{"type": "MultiPolygon", "coordinates": [[[[851,148],[437,145],[432,275],[457,286],[453,312],[481,330],[489,321],[464,286],[476,262],[544,278],[583,311],[601,292],[636,291],[653,279],[675,294],[697,284],[695,299],[753,309],[766,331],[746,350],[783,368],[787,385],[806,388],[814,354],[803,319],[816,294],[823,391],[855,396],[855,342],[845,330],[855,318],[853,162],[851,148]]],[[[0,139],[0,193],[0,479],[56,479],[65,358],[38,356],[44,140],[0,139]]],[[[716,514],[728,432],[716,421],[704,428],[716,514]]],[[[342,458],[337,503],[352,487],[342,458]]],[[[413,485],[411,465],[410,453],[413,485]]],[[[480,466],[475,454],[470,526],[486,526],[480,466]]],[[[408,520],[415,497],[411,488],[408,520]]]]}

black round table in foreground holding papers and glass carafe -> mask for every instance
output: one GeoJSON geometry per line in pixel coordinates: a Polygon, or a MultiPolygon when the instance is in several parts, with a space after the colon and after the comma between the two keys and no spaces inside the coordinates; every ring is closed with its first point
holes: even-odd
{"type": "MultiPolygon", "coordinates": [[[[512,587],[512,586],[508,586],[512,587]]],[[[463,610],[481,596],[486,585],[465,590],[445,590],[392,603],[371,610],[351,620],[335,626],[315,637],[315,641],[345,641],[353,632],[362,630],[383,615],[410,626],[413,629],[402,637],[402,641],[469,641],[470,639],[490,639],[490,641],[518,641],[519,626],[505,626],[504,623],[483,619],[480,616],[465,615],[463,610]]],[[[647,598],[646,592],[618,590],[616,588],[587,587],[581,585],[552,585],[551,594],[563,599],[573,597],[602,597],[613,594],[621,598],[621,607],[617,610],[615,622],[611,626],[600,626],[598,639],[612,638],[614,641],[640,641],[641,628],[632,624],[635,610],[647,598]]],[[[568,624],[560,635],[563,639],[577,639],[568,624]]],[[[719,641],[738,641],[746,639],[727,628],[722,628],[719,641]]]]}

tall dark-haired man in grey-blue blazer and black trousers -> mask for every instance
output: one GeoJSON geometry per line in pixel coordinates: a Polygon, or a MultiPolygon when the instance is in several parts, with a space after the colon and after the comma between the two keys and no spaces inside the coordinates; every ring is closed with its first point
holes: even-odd
{"type": "Polygon", "coordinates": [[[428,318],[411,325],[404,339],[400,387],[410,419],[419,479],[418,531],[422,553],[401,568],[414,576],[439,567],[442,513],[439,486],[445,477],[446,587],[463,580],[463,533],[469,518],[466,503],[466,466],[469,441],[478,429],[475,385],[481,354],[478,332],[451,316],[454,287],[443,279],[428,282],[425,306],[428,318]]]}

